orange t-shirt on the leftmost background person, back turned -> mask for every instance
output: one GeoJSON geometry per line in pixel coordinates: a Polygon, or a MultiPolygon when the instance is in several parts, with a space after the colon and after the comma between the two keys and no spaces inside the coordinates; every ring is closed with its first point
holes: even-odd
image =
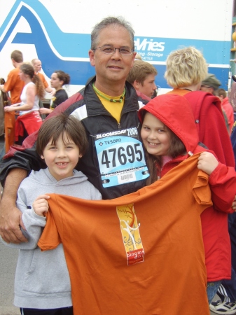
{"type": "Polygon", "coordinates": [[[8,79],[4,84],[4,90],[11,92],[11,104],[20,103],[20,95],[22,93],[25,82],[20,80],[20,68],[11,70],[8,74],[8,79]]]}

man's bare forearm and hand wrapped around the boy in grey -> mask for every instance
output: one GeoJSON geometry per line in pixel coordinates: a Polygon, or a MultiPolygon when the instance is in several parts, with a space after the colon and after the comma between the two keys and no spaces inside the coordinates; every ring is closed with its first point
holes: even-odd
{"type": "Polygon", "coordinates": [[[22,212],[15,206],[18,188],[27,176],[25,169],[11,169],[4,186],[4,195],[0,203],[0,235],[7,243],[18,244],[27,239],[22,235],[20,226],[22,212]]]}

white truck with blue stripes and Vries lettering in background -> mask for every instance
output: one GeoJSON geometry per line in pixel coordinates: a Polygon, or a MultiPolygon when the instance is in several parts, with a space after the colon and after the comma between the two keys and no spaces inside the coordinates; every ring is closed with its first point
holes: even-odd
{"type": "MultiPolygon", "coordinates": [[[[165,60],[172,50],[189,45],[202,51],[209,73],[230,87],[231,39],[235,0],[8,0],[0,1],[0,77],[13,68],[11,52],[21,50],[24,61],[41,59],[49,82],[53,71],[70,74],[69,95],[95,74],[90,65],[90,32],[109,15],[123,16],[135,31],[135,48],[158,70],[160,93],[169,86],[165,60]]],[[[231,62],[231,65],[233,62],[231,62]]]]}

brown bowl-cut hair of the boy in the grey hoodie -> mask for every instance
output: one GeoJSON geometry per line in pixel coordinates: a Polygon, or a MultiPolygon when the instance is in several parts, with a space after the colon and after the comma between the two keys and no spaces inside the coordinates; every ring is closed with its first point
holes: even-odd
{"type": "Polygon", "coordinates": [[[61,134],[63,134],[64,143],[67,142],[67,138],[71,139],[78,146],[80,153],[84,155],[88,146],[85,129],[80,120],[64,113],[48,118],[43,122],[36,141],[37,153],[43,155],[43,150],[50,139],[52,139],[52,144],[56,144],[61,134]]]}

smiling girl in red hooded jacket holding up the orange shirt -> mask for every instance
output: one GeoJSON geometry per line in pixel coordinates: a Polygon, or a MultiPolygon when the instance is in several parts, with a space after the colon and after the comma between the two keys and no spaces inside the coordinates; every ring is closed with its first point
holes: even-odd
{"type": "Polygon", "coordinates": [[[233,212],[235,169],[221,164],[213,153],[198,145],[195,120],[185,97],[175,94],[155,97],[139,110],[139,119],[150,172],[148,185],[161,179],[190,155],[202,152],[196,166],[209,175],[214,204],[201,215],[210,303],[221,280],[230,279],[231,274],[227,214],[233,212]]]}

